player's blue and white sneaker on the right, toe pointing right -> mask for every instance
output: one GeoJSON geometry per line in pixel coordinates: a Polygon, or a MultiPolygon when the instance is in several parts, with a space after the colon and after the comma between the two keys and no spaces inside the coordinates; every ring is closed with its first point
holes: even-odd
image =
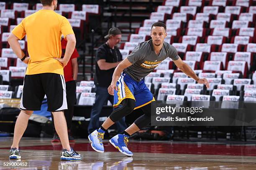
{"type": "Polygon", "coordinates": [[[120,153],[123,153],[126,156],[133,156],[133,153],[128,150],[128,140],[129,136],[118,134],[109,140],[109,142],[119,150],[120,153]]]}

